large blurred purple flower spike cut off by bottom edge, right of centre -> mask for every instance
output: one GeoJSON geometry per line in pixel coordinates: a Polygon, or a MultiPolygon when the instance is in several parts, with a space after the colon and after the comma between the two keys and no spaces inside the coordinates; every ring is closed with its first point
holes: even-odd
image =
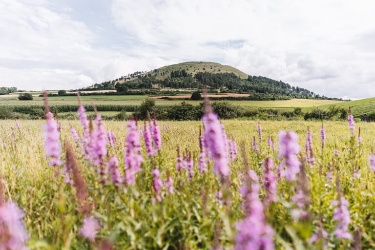
{"type": "Polygon", "coordinates": [[[263,204],[259,200],[259,186],[251,185],[251,191],[243,188],[246,197],[247,216],[238,222],[234,250],[273,250],[273,229],[266,224],[263,204]]]}

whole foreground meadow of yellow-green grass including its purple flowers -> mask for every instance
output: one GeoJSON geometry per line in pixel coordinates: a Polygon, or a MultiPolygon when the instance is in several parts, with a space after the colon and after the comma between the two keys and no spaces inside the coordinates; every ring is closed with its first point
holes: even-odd
{"type": "Polygon", "coordinates": [[[47,118],[0,121],[0,246],[375,247],[372,123],[47,118]]]}

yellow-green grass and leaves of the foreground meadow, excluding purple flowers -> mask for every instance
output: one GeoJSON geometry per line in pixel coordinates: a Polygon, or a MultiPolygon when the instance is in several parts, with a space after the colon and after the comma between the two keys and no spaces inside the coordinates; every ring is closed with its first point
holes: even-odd
{"type": "MultiPolygon", "coordinates": [[[[239,194],[240,187],[247,185],[247,179],[244,179],[247,165],[244,165],[241,148],[245,149],[250,168],[260,177],[259,200],[264,204],[266,223],[274,232],[273,236],[268,235],[275,249],[294,249],[296,244],[299,246],[296,249],[321,249],[319,242],[309,241],[312,234],[320,229],[327,231],[325,241],[332,249],[350,249],[352,240],[342,240],[334,234],[338,221],[333,220],[335,207],[332,201],[340,191],[334,181],[330,181],[328,172],[333,175],[333,180],[336,176],[340,177],[340,195],[349,202],[348,232],[354,235],[359,231],[363,249],[375,248],[372,230],[375,221],[367,219],[373,217],[375,209],[375,174],[369,170],[367,161],[375,144],[372,136],[375,128],[371,123],[356,124],[357,128],[361,127],[363,138],[363,143],[357,147],[356,135],[351,137],[347,122],[325,122],[327,140],[322,150],[320,122],[260,122],[263,139],[261,143],[256,139],[257,154],[252,149],[251,140],[258,138],[258,122],[223,120],[227,137],[234,140],[239,148],[237,159],[229,163],[229,186],[221,185],[219,176],[213,173],[212,160],[207,172],[201,173],[197,168],[201,122],[159,122],[161,127],[169,125],[168,130],[162,131],[160,153],[153,158],[147,157],[142,139],[142,170],[136,174],[135,184],[123,184],[121,188],[115,188],[110,181],[108,184],[101,183],[97,172],[99,166],[89,165],[80,148],[75,146],[77,161],[88,188],[88,197],[83,204],[93,204],[89,214],[100,223],[96,240],[91,243],[80,235],[83,217],[87,214],[82,213],[83,204],[77,201],[76,187],[65,184],[62,169],[59,169],[60,175],[56,175],[56,168],[49,167],[45,159],[44,123],[19,121],[20,129],[16,127],[12,139],[10,127],[15,127],[15,122],[0,121],[0,138],[5,143],[5,146],[0,146],[3,196],[5,200],[12,199],[24,211],[23,223],[30,235],[27,243],[30,249],[92,249],[104,240],[115,249],[168,249],[168,246],[172,249],[196,249],[197,246],[199,249],[212,249],[217,244],[223,249],[232,249],[239,233],[235,225],[247,216],[244,198],[239,194]],[[300,158],[306,167],[306,177],[298,175],[297,181],[293,182],[277,179],[277,201],[266,205],[268,191],[263,187],[262,163],[266,157],[271,157],[276,167],[280,163],[277,151],[267,146],[267,137],[271,136],[276,143],[278,130],[293,130],[299,135],[298,143],[302,154],[305,154],[308,126],[312,131],[316,164],[308,167],[305,158],[300,158]],[[177,145],[181,151],[187,148],[194,159],[191,180],[187,178],[187,170],[175,169],[177,145]],[[335,146],[339,156],[333,155],[335,146]],[[160,169],[163,182],[167,176],[173,178],[175,193],[169,194],[163,187],[163,201],[156,203],[153,202],[156,194],[152,191],[151,170],[154,167],[160,169]],[[360,177],[353,177],[354,171],[359,171],[360,177]],[[229,205],[218,202],[218,190],[223,191],[223,197],[230,199],[229,205]],[[306,205],[297,207],[293,202],[292,197],[297,190],[304,190],[308,201],[302,204],[306,205]],[[308,219],[293,219],[291,214],[294,209],[306,210],[308,219]]],[[[79,121],[70,121],[70,124],[82,134],[79,121]]],[[[125,122],[104,122],[105,129],[114,131],[116,135],[117,147],[107,148],[108,156],[118,156],[121,175],[124,174],[125,125],[125,122]]],[[[75,145],[69,132],[69,122],[61,121],[61,126],[61,143],[67,139],[75,145]]],[[[142,123],[139,123],[138,131],[141,126],[142,123]]],[[[276,174],[275,168],[272,171],[276,174]]]]}

